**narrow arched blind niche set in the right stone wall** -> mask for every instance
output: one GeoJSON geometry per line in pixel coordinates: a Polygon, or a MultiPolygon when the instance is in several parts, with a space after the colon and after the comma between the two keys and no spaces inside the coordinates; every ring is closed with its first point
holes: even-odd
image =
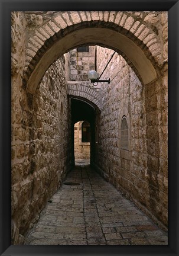
{"type": "Polygon", "coordinates": [[[121,123],[121,149],[129,150],[128,123],[126,116],[122,117],[121,123]]]}

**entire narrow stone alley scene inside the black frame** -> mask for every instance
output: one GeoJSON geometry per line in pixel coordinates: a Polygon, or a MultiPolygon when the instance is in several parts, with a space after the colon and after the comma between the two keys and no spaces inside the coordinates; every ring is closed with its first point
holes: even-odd
{"type": "Polygon", "coordinates": [[[167,244],[168,12],[12,11],[11,32],[11,244],[167,244]]]}

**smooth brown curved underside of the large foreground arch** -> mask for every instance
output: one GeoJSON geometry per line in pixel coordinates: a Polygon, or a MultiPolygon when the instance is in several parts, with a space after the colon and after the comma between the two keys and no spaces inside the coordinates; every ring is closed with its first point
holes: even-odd
{"type": "Polygon", "coordinates": [[[53,43],[50,49],[41,56],[28,79],[28,91],[31,93],[35,92],[35,88],[40,82],[44,72],[55,60],[64,53],[69,52],[70,49],[85,43],[105,45],[120,54],[122,53],[129,60],[143,84],[149,84],[157,78],[157,73],[151,60],[149,60],[142,49],[128,37],[110,28],[79,28],[53,43]]]}

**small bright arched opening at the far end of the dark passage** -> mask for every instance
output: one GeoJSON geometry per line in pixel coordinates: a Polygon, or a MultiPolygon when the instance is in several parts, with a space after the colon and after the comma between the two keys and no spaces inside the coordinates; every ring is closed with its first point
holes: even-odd
{"type": "Polygon", "coordinates": [[[75,165],[90,164],[90,123],[82,120],[74,124],[75,165]]]}

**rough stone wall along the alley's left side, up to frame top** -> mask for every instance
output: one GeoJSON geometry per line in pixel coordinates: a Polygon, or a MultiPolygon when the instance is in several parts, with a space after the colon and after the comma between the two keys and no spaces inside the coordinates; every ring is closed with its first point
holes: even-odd
{"type": "Polygon", "coordinates": [[[24,30],[23,15],[12,13],[12,244],[23,243],[70,169],[64,57],[45,72],[34,95],[25,91],[24,30]]]}

